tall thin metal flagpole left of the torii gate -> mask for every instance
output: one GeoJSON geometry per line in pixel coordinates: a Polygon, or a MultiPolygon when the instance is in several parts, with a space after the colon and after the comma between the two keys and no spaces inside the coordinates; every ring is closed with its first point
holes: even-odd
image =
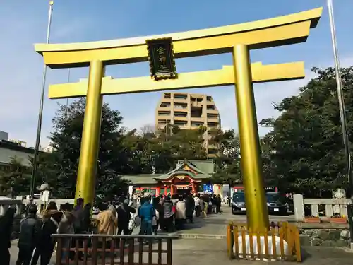
{"type": "MultiPolygon", "coordinates": [[[[52,25],[52,13],[53,13],[54,1],[49,2],[49,18],[47,25],[47,44],[50,38],[50,26],[52,25]]],[[[37,124],[37,138],[35,139],[35,155],[33,157],[33,169],[32,177],[30,179],[30,198],[33,198],[35,194],[35,175],[37,174],[37,160],[38,153],[40,149],[40,132],[42,130],[42,117],[43,117],[43,107],[44,107],[44,93],[45,93],[45,81],[47,79],[47,65],[44,64],[43,78],[42,78],[42,93],[40,95],[40,110],[38,113],[38,124],[37,124]]]]}

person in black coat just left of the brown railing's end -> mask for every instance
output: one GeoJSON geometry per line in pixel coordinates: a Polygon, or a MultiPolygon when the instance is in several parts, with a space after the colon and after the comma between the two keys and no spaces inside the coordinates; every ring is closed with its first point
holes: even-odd
{"type": "Polygon", "coordinates": [[[33,255],[31,265],[36,265],[39,257],[40,265],[49,264],[55,247],[55,240],[52,239],[52,235],[57,234],[63,214],[64,213],[61,211],[56,211],[56,213],[52,214],[51,218],[44,220],[35,246],[35,254],[33,255]]]}

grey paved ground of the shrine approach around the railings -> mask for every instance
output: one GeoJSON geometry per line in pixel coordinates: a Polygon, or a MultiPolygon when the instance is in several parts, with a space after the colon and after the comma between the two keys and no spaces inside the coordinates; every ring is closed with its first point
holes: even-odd
{"type": "MultiPolygon", "coordinates": [[[[230,208],[223,207],[222,214],[213,214],[207,218],[195,218],[194,224],[188,224],[184,230],[176,232],[182,238],[173,241],[173,264],[175,265],[215,265],[215,264],[259,264],[261,261],[229,261],[227,258],[227,247],[225,241],[226,224],[229,220],[239,223],[246,223],[246,216],[233,216],[230,208]],[[213,236],[210,236],[213,235],[213,236]],[[189,238],[189,239],[185,239],[189,238]],[[200,240],[198,238],[203,238],[200,240]]],[[[294,216],[270,216],[270,220],[278,221],[294,221],[294,216]]],[[[138,233],[136,229],[133,233],[138,233]]],[[[350,265],[353,261],[353,254],[344,252],[339,248],[330,247],[305,247],[304,264],[311,265],[350,265]]],[[[13,242],[11,248],[11,265],[15,265],[18,255],[16,242],[13,242]]],[[[147,254],[143,257],[147,262],[147,254]]],[[[153,254],[153,262],[157,261],[157,254],[153,254]]],[[[135,257],[136,259],[137,257],[135,257]]],[[[55,254],[53,255],[53,261],[55,254]]],[[[166,257],[162,255],[162,260],[166,257]]],[[[138,260],[138,259],[136,259],[138,260]]],[[[278,262],[262,262],[262,264],[278,264],[278,262]]],[[[0,261],[1,264],[1,261],[0,261]]],[[[54,264],[54,263],[53,263],[54,264]]]]}

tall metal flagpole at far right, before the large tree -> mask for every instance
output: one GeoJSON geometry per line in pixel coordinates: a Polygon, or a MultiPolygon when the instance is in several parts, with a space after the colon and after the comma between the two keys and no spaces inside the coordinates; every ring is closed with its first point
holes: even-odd
{"type": "MultiPolygon", "coordinates": [[[[337,97],[338,105],[340,107],[340,118],[342,125],[342,138],[343,145],[345,146],[345,159],[347,163],[347,177],[348,177],[348,192],[351,200],[353,200],[353,191],[352,191],[352,161],[351,154],[349,149],[349,137],[347,130],[347,118],[345,110],[345,97],[342,90],[342,78],[340,73],[340,60],[338,58],[337,50],[337,40],[336,40],[336,30],[335,30],[335,18],[333,16],[333,1],[327,0],[328,4],[328,17],[330,18],[330,30],[331,30],[331,40],[333,45],[333,57],[335,59],[335,73],[336,73],[336,83],[337,83],[337,97]]],[[[352,201],[347,206],[348,211],[348,220],[349,220],[349,229],[351,231],[351,239],[353,240],[353,206],[352,201]]]]}

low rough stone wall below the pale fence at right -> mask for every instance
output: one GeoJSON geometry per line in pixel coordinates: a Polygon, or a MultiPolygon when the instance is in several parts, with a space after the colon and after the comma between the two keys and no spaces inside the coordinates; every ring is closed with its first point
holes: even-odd
{"type": "Polygon", "coordinates": [[[301,246],[348,247],[351,243],[347,229],[299,228],[301,246]]]}

